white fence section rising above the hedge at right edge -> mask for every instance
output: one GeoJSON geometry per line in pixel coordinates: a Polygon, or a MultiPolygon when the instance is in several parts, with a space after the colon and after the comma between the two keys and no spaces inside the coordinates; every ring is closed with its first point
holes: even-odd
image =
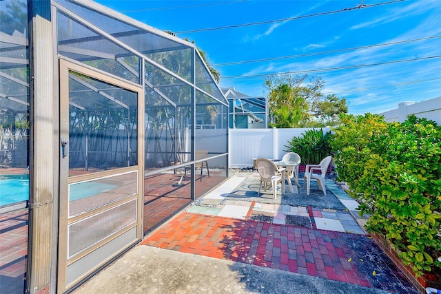
{"type": "Polygon", "coordinates": [[[384,116],[384,120],[387,122],[398,121],[402,123],[412,114],[418,118],[434,120],[438,125],[441,125],[441,97],[418,103],[402,102],[398,104],[398,108],[383,112],[380,115],[384,116]]]}

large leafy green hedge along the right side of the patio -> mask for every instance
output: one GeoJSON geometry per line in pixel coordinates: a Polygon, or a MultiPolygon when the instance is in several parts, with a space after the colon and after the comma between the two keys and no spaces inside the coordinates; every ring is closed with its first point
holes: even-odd
{"type": "Polygon", "coordinates": [[[343,116],[331,147],[338,178],[368,213],[367,229],[384,235],[416,275],[441,266],[441,127],[411,116],[343,116]]]}

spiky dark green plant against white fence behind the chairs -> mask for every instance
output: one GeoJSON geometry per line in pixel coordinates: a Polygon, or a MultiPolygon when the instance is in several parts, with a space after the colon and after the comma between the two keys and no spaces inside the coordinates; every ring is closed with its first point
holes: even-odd
{"type": "Polygon", "coordinates": [[[330,138],[330,132],[323,133],[322,129],[309,129],[303,136],[294,137],[288,141],[285,151],[296,152],[304,165],[318,164],[331,154],[330,138]]]}

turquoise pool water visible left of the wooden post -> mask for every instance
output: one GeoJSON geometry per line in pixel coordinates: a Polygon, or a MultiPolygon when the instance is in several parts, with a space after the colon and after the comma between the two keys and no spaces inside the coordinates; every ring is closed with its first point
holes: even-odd
{"type": "Polygon", "coordinates": [[[29,176],[0,176],[0,206],[29,200],[29,176]]]}

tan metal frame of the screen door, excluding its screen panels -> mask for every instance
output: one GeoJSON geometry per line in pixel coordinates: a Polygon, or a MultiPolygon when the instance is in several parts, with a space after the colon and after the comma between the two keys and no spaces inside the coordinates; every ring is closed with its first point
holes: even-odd
{"type": "MultiPolygon", "coordinates": [[[[63,293],[70,288],[76,286],[80,282],[83,282],[87,277],[93,275],[99,269],[102,268],[108,262],[114,260],[118,255],[130,249],[134,244],[138,243],[143,238],[143,182],[144,182],[144,97],[143,97],[143,87],[141,85],[136,85],[134,83],[127,82],[122,78],[116,76],[110,76],[109,74],[96,70],[87,65],[82,65],[74,61],[59,58],[59,83],[60,83],[60,180],[59,180],[59,242],[58,242],[58,262],[57,262],[57,292],[63,293]],[[90,174],[85,174],[81,176],[71,176],[69,177],[69,158],[68,155],[63,157],[61,145],[61,138],[69,138],[69,74],[70,72],[76,72],[78,74],[83,74],[90,78],[103,81],[105,83],[110,83],[117,87],[121,87],[124,90],[137,93],[137,104],[138,104],[138,129],[137,129],[137,165],[132,167],[122,167],[117,169],[111,169],[107,171],[97,171],[90,174]],[[136,173],[137,179],[137,193],[136,195],[112,202],[111,204],[106,204],[104,207],[99,207],[93,211],[88,211],[83,213],[81,216],[69,217],[68,211],[68,187],[75,182],[90,181],[96,178],[112,177],[127,173],[136,173]],[[64,196],[64,197],[63,197],[64,196]],[[130,201],[136,201],[136,223],[130,225],[123,231],[119,231],[114,235],[101,240],[101,242],[94,244],[87,250],[76,255],[74,258],[68,258],[68,226],[73,222],[78,222],[81,219],[91,218],[94,215],[103,213],[103,211],[108,211],[114,207],[125,204],[130,201]],[[124,234],[127,231],[132,230],[136,237],[133,240],[121,240],[124,238],[124,234]],[[112,244],[114,242],[115,244],[112,244]],[[73,262],[81,260],[81,258],[88,258],[88,256],[95,254],[103,246],[120,246],[121,248],[113,249],[114,254],[110,256],[101,256],[98,258],[99,261],[92,269],[89,269],[74,281],[67,281],[67,271],[68,266],[73,262]],[[94,253],[95,252],[95,253],[94,253]]],[[[68,145],[67,145],[68,146],[68,145]]],[[[132,234],[133,235],[133,234],[132,234]]],[[[92,257],[93,259],[93,257],[92,257]]],[[[96,256],[95,256],[96,259],[96,256]]]]}

